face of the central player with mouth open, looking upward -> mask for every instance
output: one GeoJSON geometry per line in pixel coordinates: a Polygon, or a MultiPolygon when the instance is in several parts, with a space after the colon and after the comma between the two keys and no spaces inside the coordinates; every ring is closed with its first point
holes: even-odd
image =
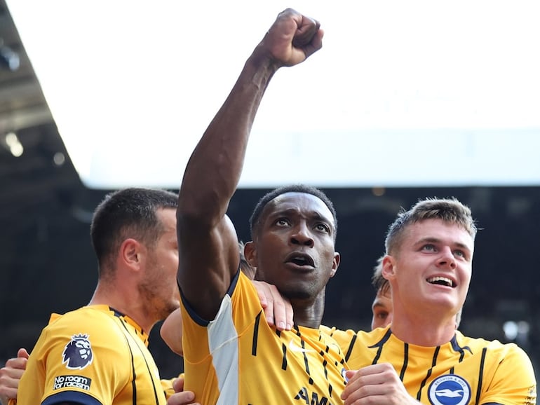
{"type": "Polygon", "coordinates": [[[257,280],[290,299],[315,300],[339,265],[332,213],[318,197],[291,192],[266,204],[248,259],[257,280]]]}

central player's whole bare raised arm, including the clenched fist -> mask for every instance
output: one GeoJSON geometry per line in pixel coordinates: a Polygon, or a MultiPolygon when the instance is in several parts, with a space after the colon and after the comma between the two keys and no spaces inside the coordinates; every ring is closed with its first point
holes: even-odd
{"type": "Polygon", "coordinates": [[[238,269],[238,239],[226,212],[244,162],[255,114],[274,73],[322,46],[318,22],[291,9],[278,15],[189,159],[177,210],[182,294],[212,320],[238,269]]]}

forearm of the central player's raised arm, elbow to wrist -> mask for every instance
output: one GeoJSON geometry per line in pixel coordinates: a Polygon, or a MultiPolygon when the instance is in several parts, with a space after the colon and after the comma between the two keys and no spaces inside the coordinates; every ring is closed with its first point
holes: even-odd
{"type": "Polygon", "coordinates": [[[241,176],[257,109],[277,69],[257,46],[191,155],[180,191],[180,212],[208,221],[222,219],[241,176]]]}

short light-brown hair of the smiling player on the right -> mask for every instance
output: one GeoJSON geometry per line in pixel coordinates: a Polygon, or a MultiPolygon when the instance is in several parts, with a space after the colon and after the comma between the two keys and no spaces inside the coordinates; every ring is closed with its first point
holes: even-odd
{"type": "Polygon", "coordinates": [[[398,217],[386,233],[384,242],[386,254],[393,254],[392,252],[398,249],[406,228],[426,219],[441,219],[447,224],[461,226],[473,240],[478,231],[471,209],[456,198],[426,198],[419,200],[410,210],[405,211],[402,208],[398,213],[398,217]]]}

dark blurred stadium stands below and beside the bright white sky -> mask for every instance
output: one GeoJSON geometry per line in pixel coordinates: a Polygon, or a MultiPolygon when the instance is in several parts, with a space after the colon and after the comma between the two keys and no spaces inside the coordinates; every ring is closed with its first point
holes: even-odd
{"type": "MultiPolygon", "coordinates": [[[[539,160],[527,164],[540,165],[539,160]]],[[[32,349],[50,313],[88,303],[97,275],[90,218],[108,191],[87,188],[79,179],[0,0],[0,366],[18,348],[32,349]]],[[[242,240],[249,239],[248,217],[264,191],[241,189],[234,196],[229,214],[242,240]]],[[[537,184],[325,191],[337,207],[337,250],[342,254],[328,287],[325,324],[368,328],[374,296],[370,277],[387,226],[400,207],[419,198],[455,196],[471,207],[482,229],[460,329],[470,336],[517,342],[538,372],[537,184]]],[[[162,376],[172,377],[182,369],[182,359],[166,348],[158,329],[152,331],[150,348],[162,376]]]]}

